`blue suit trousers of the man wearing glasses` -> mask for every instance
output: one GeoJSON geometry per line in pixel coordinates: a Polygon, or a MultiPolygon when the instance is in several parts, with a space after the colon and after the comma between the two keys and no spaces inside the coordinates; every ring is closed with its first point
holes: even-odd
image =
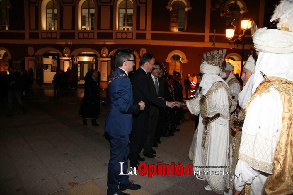
{"type": "Polygon", "coordinates": [[[123,173],[127,173],[127,156],[128,156],[128,142],[129,135],[119,136],[109,134],[110,137],[110,159],[108,163],[108,180],[107,180],[107,194],[115,194],[118,191],[118,185],[125,187],[129,185],[128,175],[119,175],[120,162],[123,162],[123,173]]]}

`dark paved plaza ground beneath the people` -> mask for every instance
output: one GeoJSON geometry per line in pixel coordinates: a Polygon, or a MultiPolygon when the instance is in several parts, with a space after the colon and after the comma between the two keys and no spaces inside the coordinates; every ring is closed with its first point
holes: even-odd
{"type": "MultiPolygon", "coordinates": [[[[103,123],[108,106],[102,106],[99,127],[82,124],[78,116],[83,89],[63,91],[53,99],[53,86],[33,88],[24,98],[27,113],[15,102],[14,116],[8,114],[7,99],[0,102],[0,194],[99,195],[106,194],[110,144],[103,123]]],[[[105,98],[105,91],[102,91],[105,98]]],[[[106,98],[105,98],[106,100],[106,98]]],[[[178,126],[175,136],[161,138],[156,158],[147,164],[191,164],[188,150],[194,134],[194,116],[178,126]]],[[[143,156],[143,155],[141,155],[143,156]]],[[[130,194],[216,194],[206,191],[207,182],[195,176],[130,175],[141,189],[130,194]]]]}

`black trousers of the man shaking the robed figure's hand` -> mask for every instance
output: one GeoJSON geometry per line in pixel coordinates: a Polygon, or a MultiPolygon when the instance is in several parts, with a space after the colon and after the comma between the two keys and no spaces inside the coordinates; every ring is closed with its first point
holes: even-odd
{"type": "Polygon", "coordinates": [[[129,160],[131,165],[138,164],[138,155],[144,146],[148,134],[148,119],[134,118],[129,144],[129,160]]]}

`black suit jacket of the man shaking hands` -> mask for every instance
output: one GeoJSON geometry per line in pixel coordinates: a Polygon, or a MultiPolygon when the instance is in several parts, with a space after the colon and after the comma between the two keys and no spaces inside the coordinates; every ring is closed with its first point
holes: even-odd
{"type": "Polygon", "coordinates": [[[166,106],[166,100],[161,100],[151,94],[147,73],[142,68],[138,68],[134,72],[131,77],[131,84],[133,104],[138,104],[141,100],[145,103],[144,110],[139,115],[134,116],[134,118],[149,118],[150,102],[160,107],[166,106]]]}

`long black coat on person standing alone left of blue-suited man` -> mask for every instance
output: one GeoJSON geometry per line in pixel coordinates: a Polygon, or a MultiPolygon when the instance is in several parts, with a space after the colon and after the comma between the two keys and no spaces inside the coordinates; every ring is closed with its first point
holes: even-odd
{"type": "Polygon", "coordinates": [[[100,113],[101,100],[98,83],[89,77],[84,83],[84,97],[78,114],[84,119],[95,119],[100,113]]]}

